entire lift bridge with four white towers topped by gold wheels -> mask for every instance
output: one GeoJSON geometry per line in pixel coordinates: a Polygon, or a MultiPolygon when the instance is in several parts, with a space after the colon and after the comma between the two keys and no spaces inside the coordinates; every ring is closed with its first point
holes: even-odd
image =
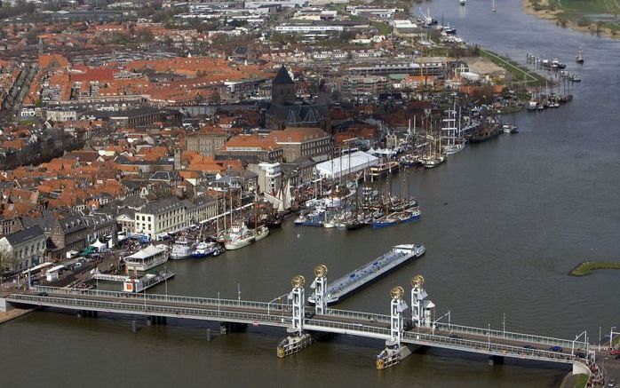
{"type": "Polygon", "coordinates": [[[392,289],[389,315],[328,308],[326,270],[323,272],[322,268],[324,265],[317,266],[312,284],[314,306],[306,305],[305,279],[301,275],[293,278],[287,303],[45,286],[12,293],[6,301],[93,315],[104,312],[147,316],[149,322],[165,323],[166,318],[179,318],[287,329],[288,337],[277,346],[279,357],[301,351],[322,333],[376,338],[386,341],[386,348],[377,356],[378,369],[398,364],[410,354],[411,347],[419,346],[486,354],[489,362],[509,357],[568,364],[573,366],[574,373],[588,375],[595,361],[586,337],[579,340],[585,333],[575,339],[562,339],[461,326],[441,321],[443,317],[431,321],[434,305],[420,275],[411,281],[411,313],[407,315],[409,306],[401,287],[392,289]]]}

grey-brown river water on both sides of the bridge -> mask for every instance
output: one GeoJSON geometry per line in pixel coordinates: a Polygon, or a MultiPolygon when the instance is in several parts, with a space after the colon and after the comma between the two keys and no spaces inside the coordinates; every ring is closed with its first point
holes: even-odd
{"type": "MultiPolygon", "coordinates": [[[[620,43],[556,28],[521,10],[518,1],[427,3],[433,16],[470,43],[508,54],[557,57],[583,82],[565,107],[515,118],[518,135],[468,146],[435,170],[412,170],[409,186],[423,218],[383,230],[341,232],[295,228],[291,220],[266,240],[205,261],[169,263],[171,294],[268,301],[290,290],[290,278],[312,278],[324,263],[338,276],[393,244],[423,242],[425,257],[391,273],[339,308],[389,312],[389,290],[425,276],[438,313],[464,325],[573,338],[620,326],[618,273],[568,276],[585,259],[618,260],[620,172],[617,92],[620,43]],[[299,235],[298,235],[299,234],[299,235]]],[[[402,175],[401,175],[402,177],[402,175]]],[[[151,292],[164,292],[160,286],[151,292]]],[[[277,359],[284,333],[253,328],[206,341],[202,322],[169,321],[131,332],[128,317],[78,319],[32,313],[0,326],[2,384],[12,386],[555,386],[566,369],[441,350],[414,353],[396,368],[375,370],[380,341],[331,337],[277,359]]]]}

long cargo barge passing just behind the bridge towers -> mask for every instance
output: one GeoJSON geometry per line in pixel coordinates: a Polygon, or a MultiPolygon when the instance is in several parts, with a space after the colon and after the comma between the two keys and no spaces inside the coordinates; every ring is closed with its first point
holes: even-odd
{"type": "MultiPolygon", "coordinates": [[[[392,271],[397,266],[405,263],[410,258],[424,255],[426,248],[422,244],[395,245],[392,250],[362,265],[351,273],[327,283],[327,304],[338,303],[354,290],[377,279],[379,276],[392,271]]],[[[308,302],[314,303],[314,293],[308,297],[308,302]]]]}

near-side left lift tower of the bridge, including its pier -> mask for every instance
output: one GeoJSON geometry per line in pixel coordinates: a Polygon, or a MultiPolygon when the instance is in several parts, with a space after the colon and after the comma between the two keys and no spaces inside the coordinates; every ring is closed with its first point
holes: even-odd
{"type": "Polygon", "coordinates": [[[290,283],[293,286],[289,294],[292,326],[287,329],[290,335],[278,344],[277,355],[281,358],[299,352],[312,344],[312,337],[304,332],[304,320],[306,318],[304,285],[306,285],[306,279],[302,275],[297,275],[293,277],[290,283]]]}

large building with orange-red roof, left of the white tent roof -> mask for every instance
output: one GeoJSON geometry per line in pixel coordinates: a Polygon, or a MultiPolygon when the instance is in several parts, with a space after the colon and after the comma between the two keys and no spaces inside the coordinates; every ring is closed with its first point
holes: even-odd
{"type": "Polygon", "coordinates": [[[290,127],[272,131],[269,137],[282,146],[284,162],[294,162],[303,156],[327,159],[331,154],[331,137],[320,128],[290,127]]]}

